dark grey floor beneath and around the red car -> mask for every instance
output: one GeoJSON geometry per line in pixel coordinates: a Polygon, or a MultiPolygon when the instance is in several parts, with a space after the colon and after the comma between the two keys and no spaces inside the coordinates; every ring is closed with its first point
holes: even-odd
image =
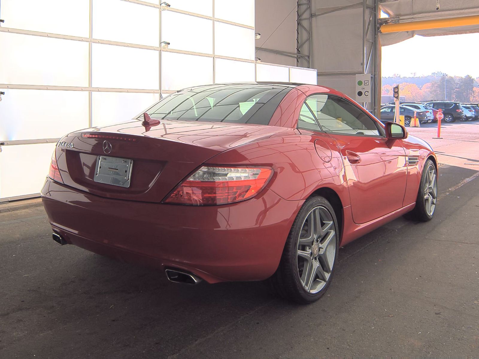
{"type": "MultiPolygon", "coordinates": [[[[479,144],[463,135],[450,133],[479,144]]],[[[328,293],[306,306],[259,282],[176,285],[60,247],[42,207],[0,213],[0,358],[478,358],[479,168],[442,158],[434,219],[342,248],[328,293]]]]}

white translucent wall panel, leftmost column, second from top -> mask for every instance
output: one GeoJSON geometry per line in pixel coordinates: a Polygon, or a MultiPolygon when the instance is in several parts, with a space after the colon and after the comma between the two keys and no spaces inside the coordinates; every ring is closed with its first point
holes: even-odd
{"type": "Polygon", "coordinates": [[[88,86],[86,42],[0,32],[0,49],[0,83],[88,86]]]}

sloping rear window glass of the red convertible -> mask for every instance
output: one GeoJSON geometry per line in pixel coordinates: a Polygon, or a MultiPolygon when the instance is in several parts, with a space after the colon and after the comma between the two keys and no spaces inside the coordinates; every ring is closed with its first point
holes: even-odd
{"type": "Polygon", "coordinates": [[[289,90],[258,84],[201,86],[173,93],[147,112],[160,120],[268,124],[289,90]]]}

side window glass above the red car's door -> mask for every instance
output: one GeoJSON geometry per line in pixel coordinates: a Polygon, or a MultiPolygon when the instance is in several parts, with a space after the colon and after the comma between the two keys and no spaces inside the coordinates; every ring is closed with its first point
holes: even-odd
{"type": "Polygon", "coordinates": [[[306,104],[325,132],[344,135],[381,135],[375,121],[345,99],[317,94],[308,97],[306,104]]]}

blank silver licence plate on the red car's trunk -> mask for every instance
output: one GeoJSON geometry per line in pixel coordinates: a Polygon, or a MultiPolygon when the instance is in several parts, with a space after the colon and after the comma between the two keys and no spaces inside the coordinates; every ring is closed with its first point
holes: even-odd
{"type": "Polygon", "coordinates": [[[114,186],[130,187],[132,168],[132,159],[98,156],[93,180],[114,186]]]}

